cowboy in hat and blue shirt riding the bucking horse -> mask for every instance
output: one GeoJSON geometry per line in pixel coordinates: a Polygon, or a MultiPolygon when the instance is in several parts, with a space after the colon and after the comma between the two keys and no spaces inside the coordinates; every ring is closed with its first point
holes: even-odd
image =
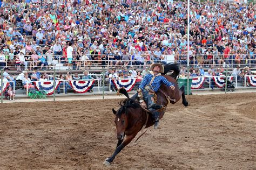
{"type": "Polygon", "coordinates": [[[159,109],[161,105],[157,105],[154,102],[155,93],[160,88],[161,84],[164,83],[167,87],[172,90],[175,89],[174,84],[169,82],[161,73],[164,73],[164,66],[160,63],[152,63],[150,66],[150,73],[147,74],[138,89],[138,97],[141,98],[140,103],[147,101],[147,110],[152,112],[152,118],[154,118],[154,129],[158,128],[159,125],[159,109]]]}

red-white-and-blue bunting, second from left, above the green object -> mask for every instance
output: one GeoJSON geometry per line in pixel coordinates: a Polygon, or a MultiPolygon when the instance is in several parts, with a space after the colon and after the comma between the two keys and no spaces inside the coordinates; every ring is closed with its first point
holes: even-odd
{"type": "MultiPolygon", "coordinates": [[[[37,90],[45,90],[46,95],[52,95],[53,94],[53,81],[36,81],[34,82],[35,87],[37,90]]],[[[60,84],[60,81],[55,81],[55,90],[58,88],[60,84]]]]}

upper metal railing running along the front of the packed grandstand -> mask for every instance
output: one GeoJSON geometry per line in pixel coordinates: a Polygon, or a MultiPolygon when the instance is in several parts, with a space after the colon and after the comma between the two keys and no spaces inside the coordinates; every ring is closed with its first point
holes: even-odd
{"type": "MultiPolygon", "coordinates": [[[[200,65],[203,66],[223,66],[223,67],[256,67],[256,55],[249,54],[230,54],[230,55],[190,55],[190,60],[187,60],[186,54],[183,55],[86,55],[88,58],[93,58],[95,60],[83,60],[83,57],[78,57],[78,55],[73,55],[72,60],[68,60],[65,55],[43,55],[45,61],[35,60],[32,58],[27,61],[15,61],[15,60],[2,60],[1,64],[4,63],[3,67],[16,68],[33,68],[42,67],[56,70],[68,70],[68,69],[85,69],[85,68],[95,68],[95,67],[116,67],[116,66],[136,66],[144,68],[150,66],[152,62],[160,63],[179,63],[181,66],[186,66],[187,61],[191,67],[197,68],[200,65]],[[120,60],[111,59],[110,56],[120,56],[120,60]],[[122,60],[126,58],[129,60],[122,60]],[[21,66],[21,67],[20,67],[21,66]]],[[[85,56],[85,55],[84,55],[85,56]]],[[[31,57],[31,55],[30,55],[31,57]]],[[[6,58],[10,56],[6,55],[6,58]]]]}

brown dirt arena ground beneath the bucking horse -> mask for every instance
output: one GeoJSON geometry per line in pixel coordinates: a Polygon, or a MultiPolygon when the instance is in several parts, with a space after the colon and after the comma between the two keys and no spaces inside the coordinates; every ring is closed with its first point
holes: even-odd
{"type": "Polygon", "coordinates": [[[113,164],[119,100],[1,104],[0,168],[255,169],[256,93],[192,95],[113,164]]]}

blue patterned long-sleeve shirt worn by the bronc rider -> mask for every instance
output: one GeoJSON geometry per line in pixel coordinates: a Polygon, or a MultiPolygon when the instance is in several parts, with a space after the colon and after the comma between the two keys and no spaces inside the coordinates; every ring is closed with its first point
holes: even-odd
{"type": "MultiPolygon", "coordinates": [[[[149,85],[152,78],[153,78],[152,74],[150,73],[147,74],[142,80],[142,83],[140,84],[139,88],[143,89],[146,85],[149,85]]],[[[170,87],[173,85],[173,83],[168,81],[164,76],[159,75],[154,78],[154,81],[152,82],[151,86],[154,91],[157,91],[160,88],[162,83],[164,83],[167,87],[170,87]]]]}

